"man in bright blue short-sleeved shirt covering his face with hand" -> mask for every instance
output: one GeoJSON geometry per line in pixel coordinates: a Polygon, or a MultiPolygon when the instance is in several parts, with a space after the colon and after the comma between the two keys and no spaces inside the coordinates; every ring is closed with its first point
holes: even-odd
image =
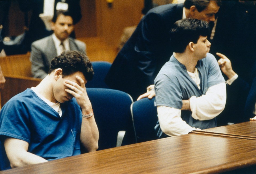
{"type": "Polygon", "coordinates": [[[11,167],[98,149],[99,132],[85,84],[93,77],[85,54],[65,51],[36,87],[15,95],[0,112],[0,140],[11,167]],[[74,97],[74,98],[73,98],[74,97]]]}

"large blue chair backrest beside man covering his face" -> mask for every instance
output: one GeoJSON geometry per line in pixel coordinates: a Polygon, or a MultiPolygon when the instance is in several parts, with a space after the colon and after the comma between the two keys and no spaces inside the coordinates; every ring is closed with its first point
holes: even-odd
{"type": "Polygon", "coordinates": [[[116,147],[119,131],[125,131],[122,145],[135,143],[130,95],[105,88],[87,88],[86,91],[99,129],[98,150],[116,147]]]}

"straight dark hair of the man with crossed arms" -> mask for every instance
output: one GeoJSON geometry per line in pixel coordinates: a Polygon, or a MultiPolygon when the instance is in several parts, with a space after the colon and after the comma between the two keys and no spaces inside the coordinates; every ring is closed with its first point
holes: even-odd
{"type": "Polygon", "coordinates": [[[171,46],[175,53],[183,53],[189,42],[197,43],[200,36],[210,33],[209,24],[198,19],[182,19],[170,31],[171,46]]]}

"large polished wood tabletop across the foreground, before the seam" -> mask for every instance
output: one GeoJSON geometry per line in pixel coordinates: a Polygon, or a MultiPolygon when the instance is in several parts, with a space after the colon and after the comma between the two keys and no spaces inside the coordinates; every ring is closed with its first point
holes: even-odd
{"type": "Polygon", "coordinates": [[[0,173],[220,173],[256,164],[255,147],[255,140],[186,134],[0,173]]]}

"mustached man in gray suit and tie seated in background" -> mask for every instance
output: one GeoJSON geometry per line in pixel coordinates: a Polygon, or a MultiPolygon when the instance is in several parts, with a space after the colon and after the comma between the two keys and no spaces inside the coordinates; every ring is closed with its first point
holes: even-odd
{"type": "Polygon", "coordinates": [[[68,11],[57,11],[51,25],[54,33],[31,45],[31,72],[35,78],[45,78],[48,75],[51,60],[65,50],[81,51],[86,54],[85,43],[69,37],[74,24],[68,11]]]}

